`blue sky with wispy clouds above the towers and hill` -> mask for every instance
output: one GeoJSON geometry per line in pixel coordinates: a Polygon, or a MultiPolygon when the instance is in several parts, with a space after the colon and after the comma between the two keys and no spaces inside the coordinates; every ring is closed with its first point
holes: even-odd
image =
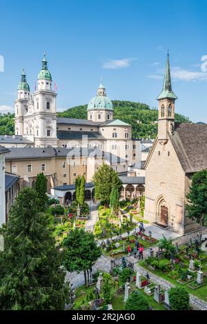
{"type": "Polygon", "coordinates": [[[207,122],[206,0],[1,0],[0,6],[1,112],[13,105],[22,67],[34,90],[45,51],[57,110],[88,103],[101,77],[110,99],[155,107],[169,49],[176,111],[207,122]]]}

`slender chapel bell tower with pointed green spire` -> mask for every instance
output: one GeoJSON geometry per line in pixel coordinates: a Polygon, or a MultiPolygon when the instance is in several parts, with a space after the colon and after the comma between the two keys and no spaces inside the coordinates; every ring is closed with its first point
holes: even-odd
{"type": "Polygon", "coordinates": [[[177,99],[172,92],[172,84],[170,77],[170,60],[169,54],[167,57],[166,72],[164,76],[164,84],[157,97],[159,101],[159,117],[158,117],[158,139],[166,140],[168,132],[172,134],[175,125],[175,100],[177,99]]]}

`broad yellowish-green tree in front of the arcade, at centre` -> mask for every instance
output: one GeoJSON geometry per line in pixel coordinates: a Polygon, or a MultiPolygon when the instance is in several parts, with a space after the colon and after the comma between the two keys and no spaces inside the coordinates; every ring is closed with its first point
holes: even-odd
{"type": "Polygon", "coordinates": [[[119,192],[121,190],[121,181],[117,172],[110,165],[103,163],[99,170],[95,172],[93,182],[95,184],[95,198],[108,207],[112,188],[117,188],[119,192]]]}

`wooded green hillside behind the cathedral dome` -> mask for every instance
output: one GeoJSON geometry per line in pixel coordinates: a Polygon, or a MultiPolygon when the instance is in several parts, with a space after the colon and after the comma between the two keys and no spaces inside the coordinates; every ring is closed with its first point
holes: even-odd
{"type": "MultiPolygon", "coordinates": [[[[150,108],[144,103],[135,103],[132,101],[112,101],[114,105],[114,119],[121,119],[132,125],[132,136],[134,138],[155,138],[157,134],[158,110],[150,108]]],[[[69,108],[64,112],[59,112],[59,117],[87,118],[87,105],[79,105],[69,108]]],[[[176,121],[189,122],[188,117],[181,114],[175,114],[176,121]]]]}

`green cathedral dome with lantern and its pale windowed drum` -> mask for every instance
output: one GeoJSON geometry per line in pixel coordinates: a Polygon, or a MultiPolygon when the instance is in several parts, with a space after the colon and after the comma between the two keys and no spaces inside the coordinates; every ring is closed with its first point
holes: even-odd
{"type": "Polygon", "coordinates": [[[88,103],[88,120],[104,123],[113,119],[113,105],[106,97],[106,88],[103,86],[102,79],[99,85],[97,96],[88,103]]]}

